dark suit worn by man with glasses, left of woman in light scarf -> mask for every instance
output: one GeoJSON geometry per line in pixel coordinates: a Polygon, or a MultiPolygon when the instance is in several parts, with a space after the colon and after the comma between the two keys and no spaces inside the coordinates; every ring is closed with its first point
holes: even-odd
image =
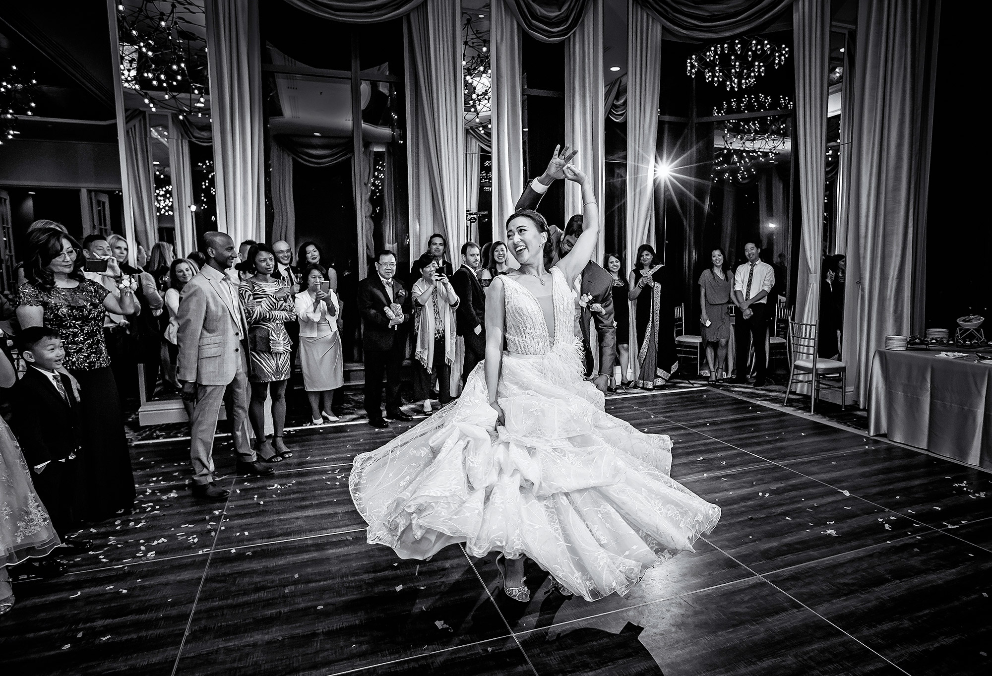
{"type": "Polygon", "coordinates": [[[358,311],[362,315],[362,348],[365,353],[365,412],[369,420],[382,419],[382,376],[386,373],[386,412],[400,410],[403,352],[407,342],[413,298],[393,278],[393,300],[378,273],[358,282],[358,311]],[[390,328],[385,308],[392,303],[403,308],[403,323],[390,328]]]}

